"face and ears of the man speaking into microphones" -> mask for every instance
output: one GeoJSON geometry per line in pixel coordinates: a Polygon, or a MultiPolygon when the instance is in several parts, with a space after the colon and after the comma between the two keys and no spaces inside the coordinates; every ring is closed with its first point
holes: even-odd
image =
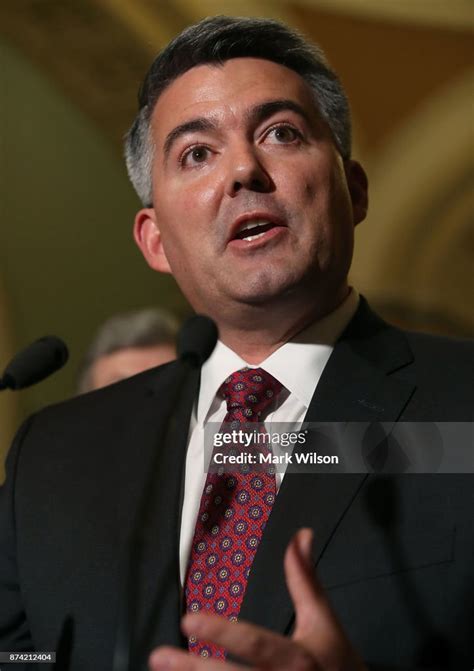
{"type": "Polygon", "coordinates": [[[365,175],[298,74],[254,58],[197,66],[160,96],[152,131],[154,207],[135,238],[196,310],[346,287],[365,175]]]}

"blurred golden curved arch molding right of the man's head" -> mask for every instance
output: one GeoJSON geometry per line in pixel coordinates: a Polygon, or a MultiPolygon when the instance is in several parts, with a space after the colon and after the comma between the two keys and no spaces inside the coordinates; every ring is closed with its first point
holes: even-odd
{"type": "Polygon", "coordinates": [[[379,305],[444,315],[464,335],[474,333],[473,87],[474,71],[427,100],[369,166],[372,214],[352,271],[379,305]]]}

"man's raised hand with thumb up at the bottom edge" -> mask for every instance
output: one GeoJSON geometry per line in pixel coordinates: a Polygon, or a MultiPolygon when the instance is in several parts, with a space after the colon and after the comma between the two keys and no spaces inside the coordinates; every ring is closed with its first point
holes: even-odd
{"type": "MultiPolygon", "coordinates": [[[[285,576],[296,613],[289,637],[246,622],[229,622],[217,615],[186,615],[187,636],[212,641],[243,660],[226,662],[226,671],[366,671],[314,576],[313,532],[300,529],[285,554],[285,576]]],[[[153,651],[150,671],[220,671],[223,662],[203,659],[176,648],[153,651]]]]}

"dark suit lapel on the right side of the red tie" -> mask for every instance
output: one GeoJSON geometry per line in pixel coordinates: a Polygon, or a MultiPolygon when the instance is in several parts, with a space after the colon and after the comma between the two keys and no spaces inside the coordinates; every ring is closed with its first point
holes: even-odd
{"type": "MultiPolygon", "coordinates": [[[[395,422],[414,387],[391,373],[411,361],[403,334],[380,320],[361,299],[323,371],[305,421],[395,422]]],[[[314,446],[308,444],[306,449],[314,451],[314,446]]],[[[294,612],[283,557],[290,538],[301,527],[314,529],[317,566],[366,477],[285,475],[252,566],[241,619],[288,632],[294,612]]]]}

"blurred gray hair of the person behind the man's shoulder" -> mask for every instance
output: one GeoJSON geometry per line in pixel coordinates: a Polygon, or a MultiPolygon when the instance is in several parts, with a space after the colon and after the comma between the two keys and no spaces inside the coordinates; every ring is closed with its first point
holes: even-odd
{"type": "Polygon", "coordinates": [[[99,328],[84,355],[78,374],[78,393],[91,389],[92,366],[101,357],[128,347],[174,345],[178,330],[178,320],[169,312],[157,308],[110,317],[99,328]]]}

